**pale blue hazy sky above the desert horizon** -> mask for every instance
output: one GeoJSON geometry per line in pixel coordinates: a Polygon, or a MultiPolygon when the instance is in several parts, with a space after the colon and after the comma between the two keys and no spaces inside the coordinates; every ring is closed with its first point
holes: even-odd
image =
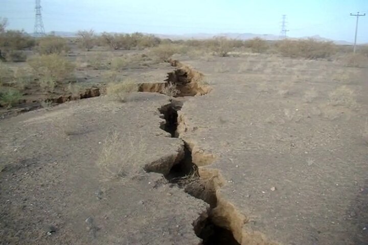
{"type": "MultiPolygon", "coordinates": [[[[9,29],[33,32],[34,0],[0,0],[9,29]]],[[[160,34],[257,33],[354,40],[356,18],[368,0],[41,0],[45,31],[146,32],[160,34]]],[[[368,15],[359,18],[358,41],[368,42],[368,15]]]]}

